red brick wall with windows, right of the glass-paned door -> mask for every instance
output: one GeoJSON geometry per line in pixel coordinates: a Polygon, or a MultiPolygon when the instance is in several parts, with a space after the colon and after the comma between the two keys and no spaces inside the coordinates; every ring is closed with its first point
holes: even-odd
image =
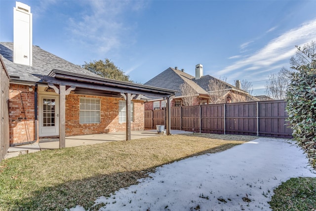
{"type": "MultiPolygon", "coordinates": [[[[106,132],[125,131],[126,124],[118,122],[119,98],[100,97],[90,95],[69,94],[66,96],[66,136],[81,134],[96,134],[106,132]],[[101,123],[79,123],[80,97],[99,98],[101,104],[101,123]]],[[[134,122],[131,130],[144,129],[144,103],[134,101],[134,122]]]]}

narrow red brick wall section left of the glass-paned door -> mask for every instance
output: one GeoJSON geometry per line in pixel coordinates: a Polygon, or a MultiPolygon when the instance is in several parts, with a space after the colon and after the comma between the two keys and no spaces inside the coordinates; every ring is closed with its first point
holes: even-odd
{"type": "Polygon", "coordinates": [[[10,144],[35,139],[34,86],[10,84],[9,137],[10,144]],[[29,91],[29,87],[33,88],[29,91]]]}

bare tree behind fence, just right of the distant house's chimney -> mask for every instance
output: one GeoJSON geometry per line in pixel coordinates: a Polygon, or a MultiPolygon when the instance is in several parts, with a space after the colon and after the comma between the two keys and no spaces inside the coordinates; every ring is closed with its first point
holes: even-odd
{"type": "Polygon", "coordinates": [[[228,92],[227,85],[222,81],[226,82],[227,78],[223,77],[220,80],[213,79],[208,82],[208,95],[210,97],[210,103],[226,103],[228,92]]]}

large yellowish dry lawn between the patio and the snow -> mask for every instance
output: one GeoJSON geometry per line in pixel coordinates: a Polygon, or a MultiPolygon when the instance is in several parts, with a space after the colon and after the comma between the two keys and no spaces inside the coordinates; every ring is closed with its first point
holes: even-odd
{"type": "Polygon", "coordinates": [[[93,210],[91,206],[97,197],[137,184],[137,179],[148,176],[158,166],[224,151],[255,138],[213,134],[158,136],[45,150],[3,160],[0,211],[64,211],[76,205],[93,210]]]}

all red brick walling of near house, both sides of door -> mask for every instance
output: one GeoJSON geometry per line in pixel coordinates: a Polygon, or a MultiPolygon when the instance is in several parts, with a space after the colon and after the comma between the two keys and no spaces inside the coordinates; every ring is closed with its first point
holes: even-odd
{"type": "MultiPolygon", "coordinates": [[[[9,139],[10,144],[35,139],[34,86],[10,84],[9,139]],[[33,88],[29,91],[29,87],[33,88]]],[[[70,94],[66,96],[66,136],[125,131],[126,124],[118,122],[118,101],[113,97],[70,94]],[[100,98],[101,123],[79,124],[80,97],[100,98]]],[[[131,130],[144,129],[144,103],[134,101],[134,122],[131,130]]]]}

